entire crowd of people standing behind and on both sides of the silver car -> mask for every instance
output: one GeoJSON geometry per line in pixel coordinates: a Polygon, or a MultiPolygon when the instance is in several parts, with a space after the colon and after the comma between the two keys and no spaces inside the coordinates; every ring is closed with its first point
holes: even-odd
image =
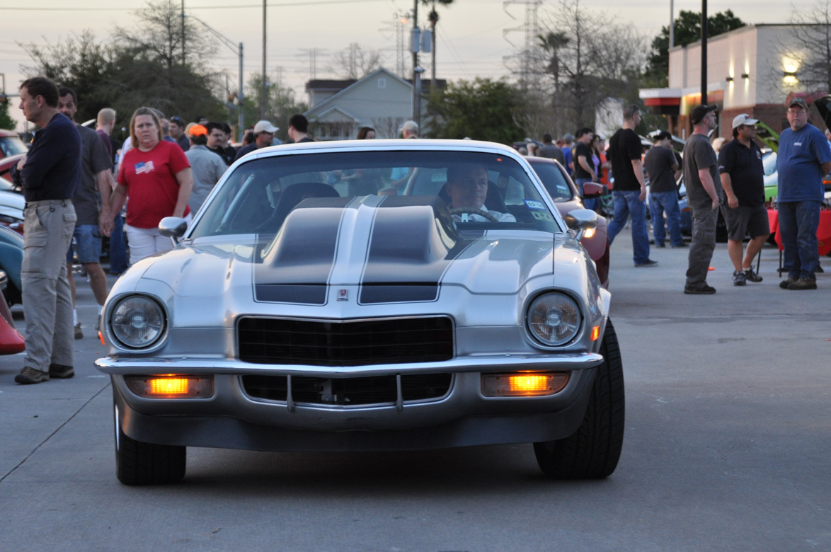
{"type": "MultiPolygon", "coordinates": [[[[77,125],[74,117],[79,99],[69,88],[59,88],[45,77],[33,77],[20,86],[20,97],[27,121],[41,129],[27,155],[11,171],[26,199],[22,298],[27,352],[15,381],[32,384],[74,375],[71,340],[82,338],[83,333],[74,308],[72,266],[77,255],[89,277],[100,317],[107,296],[106,275],[100,264],[103,236],[111,239],[111,274],[120,274],[128,266],[120,214],[125,202],[129,264],[135,264],[170,249],[170,239],[158,230],[161,219],[174,216],[188,221],[229,165],[278,143],[274,134],[279,129],[271,121],[258,121],[246,129],[237,150],[229,144],[231,129],[225,123],[198,117],[185,124],[178,116],[166,119],[159,110],[140,107],[130,118],[129,138],[119,145],[111,138],[116,112],[102,109],[96,131],[77,125]]],[[[679,229],[676,190],[683,171],[693,220],[684,293],[715,293],[706,277],[715,249],[717,209],[722,210],[727,223],[735,285],[762,281],[752,262],[770,235],[762,155],[754,142],[758,121],[746,114],[736,116],[733,139],[716,155],[709,139],[716,127],[715,110],[716,106],[702,105],[691,111],[693,132],[686,140],[682,160],[671,149],[671,135],[666,131],[658,132],[655,145],[642,155],[642,140],[635,132],[641,112],[634,105],[623,110],[622,127],[609,138],[608,146],[605,136],[583,127],[576,136],[567,134],[556,141],[546,134],[542,145],[529,143],[523,153],[558,160],[572,175],[581,195],[587,182],[612,189],[614,217],[608,225],[608,239],[613,242],[631,219],[636,267],[657,265],[650,258],[647,179],[654,244],[657,248],[666,246],[666,212],[671,247],[686,247],[679,229]],[[656,220],[661,223],[654,224],[656,220]],[[750,243],[743,251],[748,233],[750,243]]],[[[790,127],[780,137],[777,169],[779,229],[788,277],[780,287],[815,289],[815,272],[819,270],[816,231],[824,199],[822,177],[831,170],[831,143],[807,123],[804,100],[789,101],[786,114],[790,127]]],[[[399,130],[405,139],[418,137],[415,121],[406,121],[399,130]]],[[[369,140],[375,135],[371,127],[362,127],[357,138],[369,140]]],[[[288,120],[288,136],[294,143],[313,141],[305,116],[297,114],[288,120]]],[[[391,193],[395,193],[396,182],[406,180],[406,169],[402,170],[401,175],[390,175],[391,193]]],[[[366,185],[373,177],[347,176],[355,177],[355,182],[347,183],[352,186],[366,185]]],[[[470,203],[473,196],[484,199],[487,185],[487,176],[476,168],[448,175],[451,205],[470,203]]],[[[377,183],[370,187],[371,193],[385,195],[389,191],[377,183]]],[[[585,205],[598,207],[594,200],[586,200],[585,205]]]]}

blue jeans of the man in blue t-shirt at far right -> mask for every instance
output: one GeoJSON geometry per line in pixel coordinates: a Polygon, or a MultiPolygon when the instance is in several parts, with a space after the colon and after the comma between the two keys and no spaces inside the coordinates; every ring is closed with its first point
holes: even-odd
{"type": "Polygon", "coordinates": [[[819,201],[780,201],[779,233],[789,278],[816,279],[819,264],[819,201]]]}

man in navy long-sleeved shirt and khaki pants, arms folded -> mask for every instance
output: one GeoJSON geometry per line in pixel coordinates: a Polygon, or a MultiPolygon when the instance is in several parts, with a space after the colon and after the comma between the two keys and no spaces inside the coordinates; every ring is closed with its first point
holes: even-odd
{"type": "Polygon", "coordinates": [[[11,171],[26,198],[21,268],[26,357],[14,381],[27,384],[75,374],[65,259],[75,229],[71,197],[81,182],[81,135],[57,111],[57,86],[46,77],[24,81],[20,100],[27,121],[41,128],[11,171]]]}

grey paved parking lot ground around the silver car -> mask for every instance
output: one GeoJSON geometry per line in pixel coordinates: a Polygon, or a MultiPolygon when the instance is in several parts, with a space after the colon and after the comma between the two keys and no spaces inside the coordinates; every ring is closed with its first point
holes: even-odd
{"type": "Polygon", "coordinates": [[[612,245],[627,423],[603,481],[548,481],[519,445],[189,449],[182,484],[120,485],[79,278],[76,377],[18,386],[0,357],[0,550],[831,550],[831,274],[782,290],[765,246],[737,288],[719,244],[718,292],[685,295],[686,254],[637,269],[628,229],[612,245]]]}

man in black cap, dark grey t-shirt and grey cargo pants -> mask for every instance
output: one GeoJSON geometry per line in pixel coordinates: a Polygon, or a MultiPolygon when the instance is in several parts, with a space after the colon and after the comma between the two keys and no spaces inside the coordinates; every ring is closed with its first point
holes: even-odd
{"type": "Polygon", "coordinates": [[[718,216],[721,180],[715,150],[708,135],[718,126],[717,106],[696,106],[690,114],[692,134],[684,145],[684,182],[687,205],[692,210],[692,240],[684,293],[715,293],[707,285],[707,272],[715,251],[715,219],[718,216]]]}

